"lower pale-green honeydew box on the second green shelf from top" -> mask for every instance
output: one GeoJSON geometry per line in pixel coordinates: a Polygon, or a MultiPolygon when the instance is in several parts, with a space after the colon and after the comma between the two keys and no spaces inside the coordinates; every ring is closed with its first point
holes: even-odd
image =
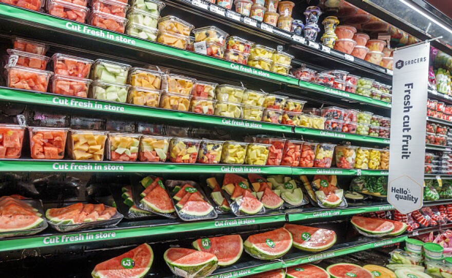
{"type": "Polygon", "coordinates": [[[89,97],[95,100],[125,103],[129,88],[129,85],[93,81],[89,90],[89,97]]]}

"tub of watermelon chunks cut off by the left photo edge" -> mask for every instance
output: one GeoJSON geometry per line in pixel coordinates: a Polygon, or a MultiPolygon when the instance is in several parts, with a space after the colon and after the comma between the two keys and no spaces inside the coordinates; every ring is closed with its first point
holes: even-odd
{"type": "Polygon", "coordinates": [[[0,158],[19,158],[22,153],[25,127],[0,125],[0,158]]]}

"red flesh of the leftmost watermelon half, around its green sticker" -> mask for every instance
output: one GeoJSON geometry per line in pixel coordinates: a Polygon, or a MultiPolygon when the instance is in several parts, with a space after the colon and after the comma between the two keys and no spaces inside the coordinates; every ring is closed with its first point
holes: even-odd
{"type": "MultiPolygon", "coordinates": [[[[96,265],[91,272],[93,278],[139,278],[143,277],[152,266],[154,252],[149,245],[142,244],[120,256],[96,265]],[[125,268],[121,261],[129,258],[133,261],[133,268],[125,268]]],[[[125,260],[125,262],[129,262],[125,260]]]]}

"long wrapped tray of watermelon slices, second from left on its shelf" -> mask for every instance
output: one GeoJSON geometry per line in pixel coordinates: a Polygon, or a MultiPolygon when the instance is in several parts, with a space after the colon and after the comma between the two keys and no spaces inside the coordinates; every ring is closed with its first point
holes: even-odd
{"type": "Polygon", "coordinates": [[[104,204],[71,204],[46,211],[49,225],[59,232],[72,232],[118,225],[124,215],[104,204]]]}

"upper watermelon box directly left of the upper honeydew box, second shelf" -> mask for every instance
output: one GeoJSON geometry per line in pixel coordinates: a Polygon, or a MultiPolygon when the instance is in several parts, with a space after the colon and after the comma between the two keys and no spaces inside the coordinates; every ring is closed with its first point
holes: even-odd
{"type": "Polygon", "coordinates": [[[53,71],[55,74],[88,78],[91,65],[94,61],[90,59],[55,53],[52,56],[53,71]]]}

